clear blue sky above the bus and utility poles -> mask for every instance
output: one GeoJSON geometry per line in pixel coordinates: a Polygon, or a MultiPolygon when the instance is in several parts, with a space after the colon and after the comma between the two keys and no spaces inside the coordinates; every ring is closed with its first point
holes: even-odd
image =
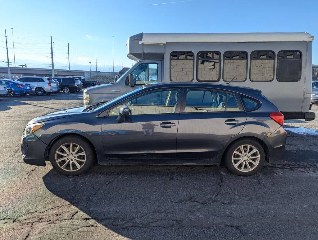
{"type": "MultiPolygon", "coordinates": [[[[0,32],[4,35],[7,29],[11,42],[10,28],[14,28],[16,58],[47,64],[50,61],[46,57],[50,53],[47,42],[51,35],[56,62],[66,63],[69,42],[71,62],[87,64],[88,59],[94,62],[97,55],[97,65],[112,64],[114,35],[114,65],[123,62],[125,66],[133,63],[127,58],[126,40],[141,32],[308,32],[316,37],[313,64],[318,65],[317,0],[178,1],[1,1],[0,32]]],[[[0,40],[0,61],[3,61],[6,60],[4,37],[0,40]]],[[[9,53],[13,62],[12,48],[9,53]]]]}

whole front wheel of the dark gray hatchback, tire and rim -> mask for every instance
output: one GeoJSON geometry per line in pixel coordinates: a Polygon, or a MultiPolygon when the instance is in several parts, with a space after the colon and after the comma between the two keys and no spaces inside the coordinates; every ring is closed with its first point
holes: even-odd
{"type": "Polygon", "coordinates": [[[77,176],[87,171],[94,160],[92,146],[81,137],[66,136],[50,150],[53,168],[65,176],[77,176]]]}

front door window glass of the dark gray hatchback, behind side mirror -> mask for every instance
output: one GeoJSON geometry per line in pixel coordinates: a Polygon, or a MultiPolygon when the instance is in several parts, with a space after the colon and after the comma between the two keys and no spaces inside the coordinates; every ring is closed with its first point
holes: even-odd
{"type": "Polygon", "coordinates": [[[175,113],[180,89],[153,91],[123,102],[109,111],[109,116],[118,116],[119,108],[127,105],[131,115],[175,113]]]}

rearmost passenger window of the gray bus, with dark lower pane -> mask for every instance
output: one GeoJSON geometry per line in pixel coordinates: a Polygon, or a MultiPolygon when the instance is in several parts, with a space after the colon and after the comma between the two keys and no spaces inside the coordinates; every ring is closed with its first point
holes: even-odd
{"type": "Polygon", "coordinates": [[[280,51],[277,54],[277,81],[296,82],[301,78],[301,52],[280,51]]]}

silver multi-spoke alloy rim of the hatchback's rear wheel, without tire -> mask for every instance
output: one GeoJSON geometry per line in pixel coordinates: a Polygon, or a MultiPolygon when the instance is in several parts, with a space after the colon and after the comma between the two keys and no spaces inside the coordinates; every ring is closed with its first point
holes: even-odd
{"type": "Polygon", "coordinates": [[[232,154],[232,164],[241,172],[252,171],[259,164],[259,160],[259,150],[250,144],[239,146],[232,154]]]}

